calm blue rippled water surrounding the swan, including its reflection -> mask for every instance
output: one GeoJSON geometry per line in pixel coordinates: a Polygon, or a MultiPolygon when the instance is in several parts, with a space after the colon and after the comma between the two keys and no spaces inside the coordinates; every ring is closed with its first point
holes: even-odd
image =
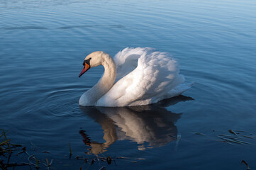
{"type": "Polygon", "coordinates": [[[0,0],[0,129],[54,159],[52,169],[245,169],[243,159],[256,169],[255,8],[254,0],[0,0]],[[124,47],[169,52],[196,84],[157,106],[79,108],[103,72],[79,79],[84,57],[124,47]],[[252,145],[220,142],[230,129],[245,130],[252,145]],[[74,158],[94,154],[129,159],[74,158]]]}

